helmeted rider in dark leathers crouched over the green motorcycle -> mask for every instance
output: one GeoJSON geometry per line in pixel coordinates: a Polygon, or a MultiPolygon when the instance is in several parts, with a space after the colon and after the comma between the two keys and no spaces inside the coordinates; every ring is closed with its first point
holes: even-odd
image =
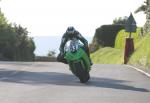
{"type": "Polygon", "coordinates": [[[84,49],[85,52],[87,53],[91,65],[93,64],[91,59],[90,59],[90,53],[89,53],[89,48],[88,48],[88,41],[77,31],[73,26],[70,26],[67,28],[66,32],[64,33],[62,39],[61,39],[61,44],[60,44],[60,54],[57,57],[57,60],[59,62],[67,63],[66,59],[64,59],[64,46],[68,40],[72,40],[73,38],[79,39],[83,44],[84,44],[84,49]]]}

